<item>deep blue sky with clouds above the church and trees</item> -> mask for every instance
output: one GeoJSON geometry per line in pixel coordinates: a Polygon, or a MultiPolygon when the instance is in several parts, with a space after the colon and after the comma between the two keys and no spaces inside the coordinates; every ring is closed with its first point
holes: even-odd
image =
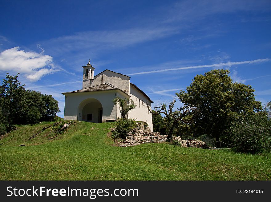
{"type": "MultiPolygon", "coordinates": [[[[168,103],[197,74],[229,69],[271,100],[271,1],[0,0],[0,79],[20,72],[26,89],[82,88],[88,59],[129,75],[153,101],[168,103]]],[[[180,107],[180,101],[176,107],[180,107]]]]}

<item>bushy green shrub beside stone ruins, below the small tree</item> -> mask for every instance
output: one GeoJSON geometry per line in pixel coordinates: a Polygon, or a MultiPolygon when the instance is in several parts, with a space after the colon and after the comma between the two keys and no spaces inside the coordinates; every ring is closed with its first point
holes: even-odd
{"type": "Polygon", "coordinates": [[[135,119],[129,118],[129,119],[119,119],[116,124],[117,128],[113,132],[113,136],[119,137],[119,138],[125,138],[127,137],[128,133],[136,127],[135,119]]]}

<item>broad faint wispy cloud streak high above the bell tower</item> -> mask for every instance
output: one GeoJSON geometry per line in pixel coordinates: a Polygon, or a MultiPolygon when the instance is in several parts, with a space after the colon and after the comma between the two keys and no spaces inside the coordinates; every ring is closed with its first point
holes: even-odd
{"type": "MultiPolygon", "coordinates": [[[[54,55],[63,55],[69,52],[101,51],[105,49],[116,49],[134,44],[153,41],[176,34],[175,26],[163,27],[140,27],[124,30],[109,31],[86,31],[78,32],[68,36],[53,38],[45,42],[40,42],[47,49],[51,49],[54,55]],[[54,48],[52,48],[54,47],[54,48]]],[[[93,56],[93,55],[92,55],[93,56]]]]}

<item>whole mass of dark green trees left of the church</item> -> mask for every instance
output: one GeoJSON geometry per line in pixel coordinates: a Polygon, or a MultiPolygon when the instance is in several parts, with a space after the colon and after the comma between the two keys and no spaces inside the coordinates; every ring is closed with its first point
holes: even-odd
{"type": "Polygon", "coordinates": [[[59,112],[58,101],[51,95],[25,90],[18,75],[6,74],[0,86],[0,122],[11,130],[13,124],[49,121],[59,112]]]}

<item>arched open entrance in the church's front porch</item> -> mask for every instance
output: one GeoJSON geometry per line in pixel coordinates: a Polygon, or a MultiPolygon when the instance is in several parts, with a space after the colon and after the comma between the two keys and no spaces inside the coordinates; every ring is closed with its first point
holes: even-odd
{"type": "Polygon", "coordinates": [[[103,122],[103,106],[99,100],[88,98],[82,101],[78,106],[77,120],[93,123],[103,122]]]}

